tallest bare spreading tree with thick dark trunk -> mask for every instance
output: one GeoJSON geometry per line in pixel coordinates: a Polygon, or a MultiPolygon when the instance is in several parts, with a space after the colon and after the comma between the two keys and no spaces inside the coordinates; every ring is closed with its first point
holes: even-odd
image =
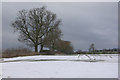
{"type": "Polygon", "coordinates": [[[61,23],[56,14],[46,9],[46,7],[33,8],[19,11],[12,27],[20,32],[19,41],[34,47],[38,52],[38,46],[43,47],[43,40],[53,29],[61,23]]]}

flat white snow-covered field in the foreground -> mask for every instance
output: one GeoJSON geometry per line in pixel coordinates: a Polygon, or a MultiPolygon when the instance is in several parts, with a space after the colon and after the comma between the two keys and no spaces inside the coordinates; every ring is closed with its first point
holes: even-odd
{"type": "Polygon", "coordinates": [[[4,58],[3,78],[117,78],[118,55],[4,58]]]}

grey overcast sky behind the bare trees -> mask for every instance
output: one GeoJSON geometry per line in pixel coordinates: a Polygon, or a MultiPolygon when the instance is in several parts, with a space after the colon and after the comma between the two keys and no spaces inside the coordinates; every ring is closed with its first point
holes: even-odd
{"type": "Polygon", "coordinates": [[[62,39],[71,41],[75,50],[87,50],[91,43],[94,43],[97,49],[118,47],[117,2],[11,2],[2,5],[3,49],[25,46],[17,41],[19,34],[14,33],[11,22],[15,20],[19,10],[41,6],[47,6],[48,10],[62,19],[62,39]]]}

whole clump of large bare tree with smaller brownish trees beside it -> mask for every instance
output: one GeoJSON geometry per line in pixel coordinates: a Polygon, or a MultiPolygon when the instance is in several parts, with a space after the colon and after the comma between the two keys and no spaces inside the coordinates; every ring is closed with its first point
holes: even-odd
{"type": "Polygon", "coordinates": [[[16,20],[12,23],[15,31],[20,33],[18,40],[34,47],[35,52],[38,52],[38,46],[40,46],[40,51],[43,47],[62,51],[65,44],[67,46],[65,49],[69,48],[73,51],[70,42],[61,40],[60,25],[61,20],[57,19],[56,14],[44,6],[19,11],[16,20]],[[62,47],[60,47],[61,44],[63,44],[62,47]]]}

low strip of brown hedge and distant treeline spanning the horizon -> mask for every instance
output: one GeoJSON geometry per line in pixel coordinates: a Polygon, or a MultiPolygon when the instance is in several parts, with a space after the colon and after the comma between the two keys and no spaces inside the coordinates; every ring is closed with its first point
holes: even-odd
{"type": "Polygon", "coordinates": [[[51,51],[51,50],[43,50],[41,53],[37,53],[28,48],[12,48],[6,49],[2,52],[0,57],[2,58],[12,58],[19,56],[33,56],[33,55],[75,55],[75,54],[118,54],[118,49],[103,49],[103,50],[95,50],[94,52],[82,51],[78,50],[76,52],[60,52],[60,51],[51,51]]]}

